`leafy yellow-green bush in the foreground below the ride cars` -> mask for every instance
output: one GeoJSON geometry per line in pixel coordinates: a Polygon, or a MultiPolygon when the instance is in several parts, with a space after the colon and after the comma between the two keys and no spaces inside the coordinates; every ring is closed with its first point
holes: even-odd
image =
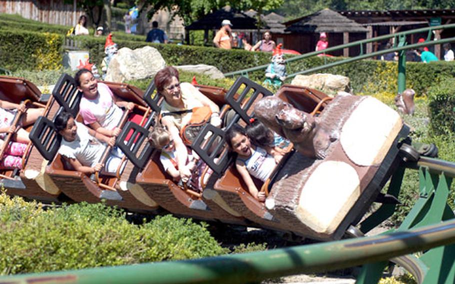
{"type": "Polygon", "coordinates": [[[103,203],[43,211],[0,194],[0,274],[198,258],[227,252],[206,224],[171,215],[134,225],[103,203]]]}

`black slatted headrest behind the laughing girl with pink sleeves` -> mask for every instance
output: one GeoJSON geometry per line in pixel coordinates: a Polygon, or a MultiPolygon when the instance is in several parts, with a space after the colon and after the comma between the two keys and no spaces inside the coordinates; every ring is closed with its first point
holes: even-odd
{"type": "Polygon", "coordinates": [[[77,89],[73,77],[63,73],[52,90],[52,96],[61,105],[65,111],[71,113],[74,117],[79,112],[79,102],[82,97],[81,92],[77,89]]]}

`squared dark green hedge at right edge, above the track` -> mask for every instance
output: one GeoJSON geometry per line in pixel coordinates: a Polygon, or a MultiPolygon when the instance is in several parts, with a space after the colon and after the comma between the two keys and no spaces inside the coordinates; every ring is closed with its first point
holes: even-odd
{"type": "Polygon", "coordinates": [[[444,79],[433,85],[429,95],[429,131],[431,135],[442,135],[454,132],[455,117],[455,80],[444,79]]]}

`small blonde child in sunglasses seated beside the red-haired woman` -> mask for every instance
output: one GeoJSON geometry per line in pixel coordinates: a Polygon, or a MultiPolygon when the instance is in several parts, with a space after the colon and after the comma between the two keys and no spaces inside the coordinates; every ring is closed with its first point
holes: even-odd
{"type": "MultiPolygon", "coordinates": [[[[159,161],[164,170],[172,176],[174,181],[180,181],[180,172],[178,171],[178,160],[175,154],[175,144],[167,130],[162,126],[155,126],[149,135],[151,144],[161,150],[159,161]]],[[[206,164],[199,160],[199,156],[194,151],[188,148],[188,158],[185,166],[192,173],[187,184],[193,189],[201,191],[200,174],[206,164]]],[[[208,175],[207,175],[208,176],[208,175]]]]}

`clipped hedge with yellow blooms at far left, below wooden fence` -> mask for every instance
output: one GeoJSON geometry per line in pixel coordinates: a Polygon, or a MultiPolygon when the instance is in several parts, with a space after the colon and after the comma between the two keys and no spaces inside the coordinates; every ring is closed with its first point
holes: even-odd
{"type": "Polygon", "coordinates": [[[0,66],[9,70],[59,69],[63,36],[0,29],[0,66]]]}

